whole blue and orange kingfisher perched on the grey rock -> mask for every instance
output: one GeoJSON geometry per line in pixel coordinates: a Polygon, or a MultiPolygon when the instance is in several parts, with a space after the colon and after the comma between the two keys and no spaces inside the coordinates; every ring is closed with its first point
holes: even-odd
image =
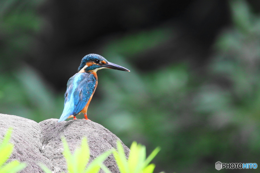
{"type": "Polygon", "coordinates": [[[127,71],[128,69],[108,62],[98,54],[88,54],[82,58],[78,73],[69,78],[67,91],[64,94],[64,109],[58,122],[67,118],[84,113],[84,120],[89,120],[87,116],[88,105],[97,87],[97,71],[102,68],[127,71]]]}

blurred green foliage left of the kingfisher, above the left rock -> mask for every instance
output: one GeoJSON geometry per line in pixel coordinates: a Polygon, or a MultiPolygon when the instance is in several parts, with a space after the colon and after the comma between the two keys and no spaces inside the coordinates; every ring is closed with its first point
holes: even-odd
{"type": "Polygon", "coordinates": [[[59,103],[63,102],[53,96],[40,74],[24,62],[35,57],[37,51],[36,36],[43,19],[36,12],[41,3],[0,2],[0,110],[36,121],[59,113],[59,103]]]}

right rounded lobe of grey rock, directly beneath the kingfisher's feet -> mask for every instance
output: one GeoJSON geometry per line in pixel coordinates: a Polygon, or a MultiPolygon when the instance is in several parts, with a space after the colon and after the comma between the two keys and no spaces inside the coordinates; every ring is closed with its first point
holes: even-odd
{"type": "MultiPolygon", "coordinates": [[[[48,119],[39,123],[43,131],[43,156],[52,163],[54,172],[66,171],[66,161],[62,155],[63,146],[61,136],[65,136],[72,153],[81,144],[82,137],[86,136],[90,149],[90,161],[111,148],[116,148],[116,135],[98,123],[89,120],[70,120],[58,123],[58,119],[48,119]]],[[[123,145],[127,156],[129,149],[123,145]]],[[[104,164],[112,172],[119,172],[113,155],[110,155],[104,164]]],[[[102,172],[102,170],[100,171],[102,172]]]]}

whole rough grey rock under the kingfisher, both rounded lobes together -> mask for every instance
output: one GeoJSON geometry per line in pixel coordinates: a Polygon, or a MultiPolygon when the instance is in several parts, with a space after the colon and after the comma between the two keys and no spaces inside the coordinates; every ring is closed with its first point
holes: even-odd
{"type": "MultiPolygon", "coordinates": [[[[67,172],[66,161],[62,155],[61,136],[65,136],[69,148],[74,152],[82,137],[88,139],[90,161],[105,151],[116,148],[119,140],[108,129],[92,121],[70,120],[58,123],[58,119],[48,119],[40,123],[15,115],[0,114],[0,138],[9,127],[14,128],[11,143],[14,151],[8,161],[26,162],[27,167],[21,172],[43,172],[37,165],[46,165],[53,172],[67,172]]],[[[123,145],[128,156],[129,149],[123,145]]],[[[119,172],[113,155],[103,162],[111,172],[119,172]]],[[[102,170],[100,172],[103,172],[102,170]]]]}

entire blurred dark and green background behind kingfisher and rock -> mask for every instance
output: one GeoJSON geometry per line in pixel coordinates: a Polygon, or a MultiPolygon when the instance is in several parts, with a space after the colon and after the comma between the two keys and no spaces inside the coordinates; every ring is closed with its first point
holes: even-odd
{"type": "Polygon", "coordinates": [[[160,146],[155,172],[260,165],[259,11],[258,0],[1,0],[0,113],[58,119],[68,79],[96,53],[131,72],[98,71],[88,117],[128,147],[160,146]]]}

